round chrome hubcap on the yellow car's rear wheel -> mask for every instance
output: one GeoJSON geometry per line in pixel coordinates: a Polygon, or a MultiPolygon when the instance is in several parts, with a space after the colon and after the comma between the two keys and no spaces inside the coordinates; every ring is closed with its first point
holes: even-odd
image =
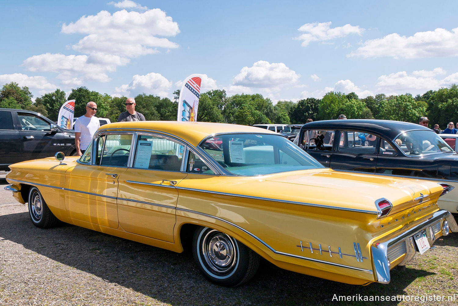
{"type": "Polygon", "coordinates": [[[236,253],[232,238],[213,230],[206,234],[203,242],[203,256],[213,271],[225,273],[234,266],[236,253]]]}

